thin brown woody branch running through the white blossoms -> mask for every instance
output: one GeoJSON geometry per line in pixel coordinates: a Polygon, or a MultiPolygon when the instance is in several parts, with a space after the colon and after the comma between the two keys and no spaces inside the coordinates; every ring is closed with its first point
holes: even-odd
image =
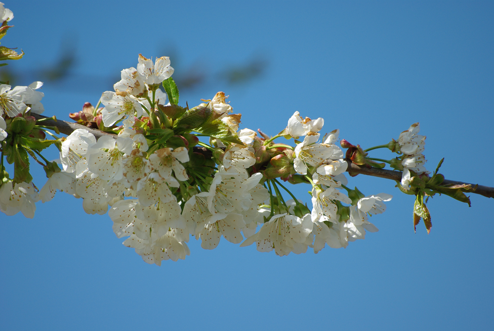
{"type": "MultiPolygon", "coordinates": [[[[37,120],[47,118],[46,116],[38,115],[38,114],[31,114],[31,115],[34,116],[37,120]]],[[[66,134],[66,135],[70,135],[73,131],[75,131],[77,129],[85,129],[85,130],[89,131],[90,133],[92,133],[94,135],[94,137],[96,137],[96,139],[98,139],[99,137],[102,137],[102,136],[116,137],[116,135],[111,134],[111,133],[102,132],[102,131],[97,130],[97,129],[85,127],[81,124],[70,123],[70,122],[61,121],[61,120],[55,121],[53,119],[46,119],[46,120],[43,120],[41,123],[42,123],[42,125],[45,125],[45,126],[57,127],[61,133],[66,134]]],[[[205,154],[205,155],[211,153],[205,147],[201,147],[201,146],[194,146],[194,151],[205,154]]],[[[380,177],[380,178],[387,178],[387,179],[390,179],[393,181],[398,181],[398,182],[400,182],[401,178],[402,178],[402,172],[401,171],[393,171],[393,170],[377,169],[377,168],[369,169],[366,167],[361,167],[355,163],[352,163],[349,160],[347,160],[347,162],[348,162],[348,169],[346,171],[348,171],[348,172],[362,174],[362,175],[368,175],[368,176],[374,176],[374,177],[380,177]]],[[[447,180],[447,179],[444,180],[443,184],[448,185],[448,186],[450,186],[450,185],[451,186],[452,185],[471,185],[472,188],[475,187],[475,184],[451,181],[451,180],[447,180]]],[[[477,189],[475,189],[475,191],[468,190],[466,192],[484,195],[488,198],[494,198],[494,188],[491,188],[488,186],[478,185],[477,189]]]]}

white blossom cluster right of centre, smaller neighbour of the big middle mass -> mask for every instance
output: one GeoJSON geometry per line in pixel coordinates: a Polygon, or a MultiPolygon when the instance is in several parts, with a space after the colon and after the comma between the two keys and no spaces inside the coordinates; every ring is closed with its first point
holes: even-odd
{"type": "Polygon", "coordinates": [[[268,148],[274,147],[276,150],[270,155],[272,168],[268,167],[265,171],[266,182],[269,188],[270,184],[273,185],[276,199],[271,199],[270,208],[264,210],[265,223],[260,231],[248,237],[241,246],[256,242],[257,250],[274,249],[278,255],[305,253],[307,247],[313,247],[317,253],[326,243],[333,248],[346,247],[349,241],[363,239],[366,230],[377,231],[368,221],[367,214],[382,213],[386,208],[383,201],[391,200],[391,195],[357,195],[358,198],[352,200],[340,191],[346,189],[354,195],[358,192],[345,186],[347,180],[343,172],[348,164],[343,159],[341,148],[334,144],[338,140],[339,131],[332,131],[322,143],[319,142],[318,132],[323,125],[322,118],[302,119],[297,111],[290,117],[287,128],[279,136],[305,136],[302,142],[296,141],[297,145],[292,148],[284,144],[269,146],[272,139],[265,140],[268,148]],[[283,170],[284,168],[290,171],[283,170]],[[270,169],[277,170],[269,171],[270,169]],[[298,180],[312,185],[312,211],[299,200],[283,200],[277,187],[285,187],[276,179],[270,178],[281,174],[282,179],[291,183],[295,184],[298,180]]]}

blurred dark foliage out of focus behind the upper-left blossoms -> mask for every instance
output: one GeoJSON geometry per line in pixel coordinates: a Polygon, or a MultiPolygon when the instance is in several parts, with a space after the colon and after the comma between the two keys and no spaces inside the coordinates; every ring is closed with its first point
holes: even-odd
{"type": "MultiPolygon", "coordinates": [[[[0,69],[0,81],[10,85],[23,85],[26,82],[41,81],[53,87],[64,90],[72,89],[74,84],[83,86],[85,92],[102,93],[112,90],[113,84],[120,81],[120,73],[112,76],[84,75],[74,70],[80,63],[83,52],[78,49],[77,36],[65,36],[60,41],[58,55],[51,62],[43,62],[39,70],[26,70],[21,65],[8,65],[0,69]]],[[[219,82],[228,86],[251,84],[261,78],[269,66],[268,58],[262,52],[254,53],[245,61],[211,68],[199,57],[191,65],[184,65],[180,49],[176,47],[162,47],[159,56],[169,56],[171,65],[175,69],[173,79],[181,92],[194,91],[206,85],[218,85],[219,82]]],[[[31,54],[30,54],[31,55],[31,54]]],[[[147,56],[147,55],[145,55],[147,56]]],[[[10,62],[12,63],[12,62],[10,62]]],[[[133,64],[135,67],[137,62],[133,64]]],[[[130,67],[132,65],[129,65],[130,67]]],[[[125,67],[127,68],[127,67],[125,67]]],[[[122,68],[122,69],[125,69],[122,68]]]]}

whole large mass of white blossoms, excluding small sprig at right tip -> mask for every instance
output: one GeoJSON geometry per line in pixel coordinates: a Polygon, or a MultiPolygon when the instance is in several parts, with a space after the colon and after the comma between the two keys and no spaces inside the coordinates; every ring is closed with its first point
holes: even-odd
{"type": "MultiPolygon", "coordinates": [[[[96,140],[78,129],[60,139],[62,169],[46,163],[48,181],[39,192],[31,182],[7,180],[0,188],[1,211],[33,217],[36,201],[64,191],[82,198],[88,214],[108,212],[115,234],[128,237],[124,245],[158,265],[185,259],[190,235],[205,249],[224,237],[241,246],[256,242],[259,251],[282,256],[308,247],[317,253],[326,243],[346,247],[366,231],[377,231],[368,215],[382,213],[391,196],[364,196],[345,187],[347,162],[335,144],[338,130],[320,142],[324,120],[303,119],[298,112],[275,137],[239,130],[241,114],[231,114],[222,92],[191,109],[178,106],[172,73],[168,57],[153,62],[139,54],[137,68],[122,70],[114,91],[102,94],[104,107],[85,104],[71,115],[109,134],[96,140]],[[209,144],[194,132],[207,133],[202,136],[209,144]],[[282,136],[295,139],[296,146],[274,143],[282,136]],[[210,158],[194,150],[198,144],[210,158]],[[312,185],[312,210],[277,178],[312,185]],[[285,201],[281,189],[294,199],[285,201]],[[341,190],[354,192],[354,198],[341,190]]],[[[11,121],[36,112],[39,87],[39,82],[12,90],[2,85],[1,114],[11,121]]]]}

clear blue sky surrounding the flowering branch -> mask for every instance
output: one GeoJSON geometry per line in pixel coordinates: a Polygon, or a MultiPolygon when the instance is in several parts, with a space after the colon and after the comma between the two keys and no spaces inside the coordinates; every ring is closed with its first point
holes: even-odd
{"type": "MultiPolygon", "coordinates": [[[[62,41],[77,50],[71,76],[43,87],[45,115],[96,103],[138,53],[169,55],[175,74],[206,75],[181,93],[189,105],[224,91],[245,127],[274,135],[298,110],[365,147],[420,122],[429,170],[445,157],[446,178],[494,186],[492,2],[5,2],[15,27],[1,43],[26,52],[9,65],[18,85],[56,63],[62,41]],[[252,81],[220,77],[253,59],[268,65],[252,81]]],[[[185,261],[148,265],[107,215],[58,193],[33,220],[0,214],[0,329],[492,330],[494,200],[434,197],[431,234],[414,234],[413,197],[388,180],[356,185],[394,195],[371,220],[379,232],[283,258],[191,238],[185,261]]]]}

